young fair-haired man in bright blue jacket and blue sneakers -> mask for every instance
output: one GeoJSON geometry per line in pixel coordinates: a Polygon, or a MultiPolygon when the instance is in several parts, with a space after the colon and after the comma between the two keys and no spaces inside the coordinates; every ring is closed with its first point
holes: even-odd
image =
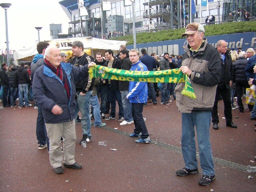
{"type": "MultiPolygon", "coordinates": [[[[147,67],[139,61],[139,52],[132,49],[129,52],[129,58],[132,62],[130,71],[148,71],[147,67]]],[[[147,102],[148,97],[148,85],[147,82],[129,82],[129,93],[126,96],[132,103],[132,117],[135,125],[135,129],[130,137],[139,137],[139,140],[135,140],[136,143],[149,143],[148,130],[145,121],[142,116],[143,104],[147,102]],[[140,134],[141,132],[141,134],[140,134]]]]}

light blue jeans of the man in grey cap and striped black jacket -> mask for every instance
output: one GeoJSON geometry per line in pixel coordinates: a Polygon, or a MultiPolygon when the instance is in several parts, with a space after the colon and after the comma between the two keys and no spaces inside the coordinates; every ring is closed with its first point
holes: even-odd
{"type": "Polygon", "coordinates": [[[79,110],[82,114],[81,122],[82,122],[83,135],[86,134],[88,137],[92,137],[92,135],[91,135],[91,114],[90,114],[91,98],[92,98],[92,91],[87,91],[86,95],[78,94],[78,98],[77,98],[79,110]]]}

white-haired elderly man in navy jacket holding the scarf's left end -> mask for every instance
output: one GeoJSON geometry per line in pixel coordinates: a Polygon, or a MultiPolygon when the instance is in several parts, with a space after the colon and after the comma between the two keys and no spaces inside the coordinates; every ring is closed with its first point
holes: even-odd
{"type": "Polygon", "coordinates": [[[81,169],[75,162],[75,82],[85,78],[92,65],[75,67],[70,63],[60,62],[60,50],[48,47],[44,53],[44,65],[39,67],[33,77],[34,98],[42,113],[50,140],[49,159],[57,174],[63,173],[64,167],[81,169]],[[63,156],[60,138],[63,137],[63,156]]]}

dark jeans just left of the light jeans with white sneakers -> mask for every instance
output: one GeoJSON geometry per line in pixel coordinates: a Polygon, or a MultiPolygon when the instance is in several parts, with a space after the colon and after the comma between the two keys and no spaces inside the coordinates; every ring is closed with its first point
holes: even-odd
{"type": "Polygon", "coordinates": [[[115,117],[116,116],[116,100],[118,103],[118,116],[123,117],[124,116],[124,108],[123,108],[123,103],[122,103],[122,97],[121,97],[121,92],[119,90],[111,90],[111,84],[108,84],[108,95],[109,95],[109,100],[111,104],[111,111],[110,111],[110,116],[115,117]]]}

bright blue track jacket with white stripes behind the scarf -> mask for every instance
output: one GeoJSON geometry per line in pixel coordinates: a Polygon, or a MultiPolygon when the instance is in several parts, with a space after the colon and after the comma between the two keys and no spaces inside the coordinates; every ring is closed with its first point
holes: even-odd
{"type": "MultiPolygon", "coordinates": [[[[130,71],[148,71],[148,68],[141,61],[132,65],[130,71]]],[[[130,103],[146,103],[148,98],[147,82],[129,82],[129,93],[126,96],[130,103]]]]}

